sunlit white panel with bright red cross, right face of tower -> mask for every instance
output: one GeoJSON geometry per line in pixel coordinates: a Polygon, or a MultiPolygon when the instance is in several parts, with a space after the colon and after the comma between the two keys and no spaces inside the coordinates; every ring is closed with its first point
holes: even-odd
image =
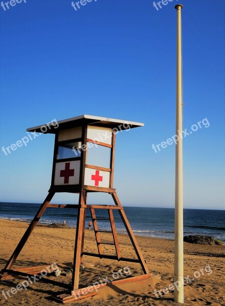
{"type": "Polygon", "coordinates": [[[108,171],[85,168],[84,185],[109,188],[108,171]]]}

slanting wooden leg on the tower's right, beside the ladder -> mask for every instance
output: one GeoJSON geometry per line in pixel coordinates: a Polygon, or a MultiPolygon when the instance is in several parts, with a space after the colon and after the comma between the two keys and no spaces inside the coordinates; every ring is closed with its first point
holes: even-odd
{"type": "MultiPolygon", "coordinates": [[[[111,194],[111,195],[113,196],[113,199],[114,199],[115,204],[116,204],[117,206],[122,206],[121,203],[120,203],[120,200],[119,200],[119,198],[118,198],[118,195],[117,195],[116,193],[113,193],[113,194],[111,194]]],[[[146,265],[146,263],[145,263],[145,260],[144,260],[144,257],[143,257],[143,255],[142,255],[142,251],[141,251],[140,248],[139,248],[138,242],[137,242],[135,236],[133,235],[132,228],[131,228],[131,226],[130,226],[130,224],[129,224],[129,221],[128,221],[127,217],[126,217],[126,214],[125,214],[124,210],[119,210],[119,214],[120,214],[121,219],[123,220],[123,223],[124,223],[124,225],[125,225],[125,227],[126,227],[128,236],[129,236],[130,241],[131,241],[131,243],[132,243],[132,245],[133,245],[133,248],[134,248],[134,250],[135,250],[135,252],[136,252],[136,254],[137,254],[137,257],[138,257],[138,259],[139,259],[139,261],[140,261],[140,264],[141,264],[141,266],[142,266],[142,269],[143,269],[143,271],[144,271],[145,274],[148,274],[148,273],[149,273],[148,267],[147,267],[147,265],[146,265]]]]}

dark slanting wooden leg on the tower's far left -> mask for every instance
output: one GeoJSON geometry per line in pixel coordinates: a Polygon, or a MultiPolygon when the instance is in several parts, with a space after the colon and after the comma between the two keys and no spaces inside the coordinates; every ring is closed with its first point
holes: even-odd
{"type": "Polygon", "coordinates": [[[36,226],[37,222],[39,221],[39,219],[41,218],[42,214],[44,213],[44,211],[47,209],[51,199],[53,198],[55,192],[50,192],[46,199],[43,201],[41,207],[39,208],[36,216],[34,217],[34,219],[32,220],[32,222],[30,223],[30,225],[27,228],[27,231],[25,232],[24,236],[22,236],[21,240],[19,241],[17,247],[15,248],[12,256],[10,257],[8,263],[6,264],[5,268],[2,270],[2,274],[4,273],[5,269],[10,270],[12,265],[14,264],[15,260],[17,259],[17,257],[19,256],[19,253],[21,252],[22,248],[24,247],[25,243],[27,242],[28,238],[30,237],[31,233],[34,230],[34,227],[36,226]]]}

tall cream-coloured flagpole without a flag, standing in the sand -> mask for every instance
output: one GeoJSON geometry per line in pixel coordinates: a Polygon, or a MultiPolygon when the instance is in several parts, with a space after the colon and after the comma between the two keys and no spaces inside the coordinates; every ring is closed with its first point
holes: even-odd
{"type": "Polygon", "coordinates": [[[182,69],[182,14],[183,5],[175,6],[177,12],[176,60],[176,144],[175,166],[175,249],[174,249],[174,301],[184,303],[184,245],[183,245],[183,69],[182,69]]]}

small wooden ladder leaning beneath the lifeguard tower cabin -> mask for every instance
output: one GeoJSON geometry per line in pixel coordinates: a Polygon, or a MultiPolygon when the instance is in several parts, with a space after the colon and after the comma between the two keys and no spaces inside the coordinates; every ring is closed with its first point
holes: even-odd
{"type": "Polygon", "coordinates": [[[104,254],[103,254],[103,251],[102,251],[102,245],[106,244],[106,245],[114,245],[115,246],[116,259],[120,260],[121,254],[120,254],[119,242],[118,242],[118,239],[117,239],[117,232],[116,232],[116,225],[115,225],[115,221],[114,221],[113,210],[108,209],[108,218],[97,218],[96,214],[95,214],[95,209],[91,208],[90,210],[91,210],[91,216],[92,216],[92,221],[93,221],[96,243],[97,243],[98,252],[99,252],[99,258],[102,258],[102,256],[105,257],[104,254]],[[111,231],[101,231],[101,230],[99,230],[97,220],[109,220],[110,225],[111,225],[111,231]],[[114,243],[101,242],[100,233],[112,233],[114,243]]]}

